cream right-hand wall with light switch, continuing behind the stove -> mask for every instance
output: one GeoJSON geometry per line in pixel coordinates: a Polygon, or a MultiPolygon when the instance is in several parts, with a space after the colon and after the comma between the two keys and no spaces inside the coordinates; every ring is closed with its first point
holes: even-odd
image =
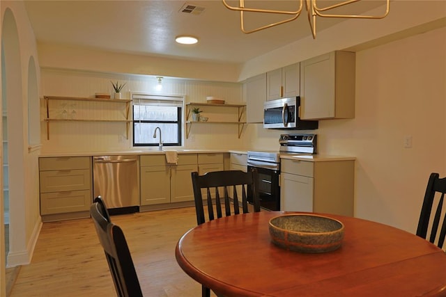
{"type": "MultiPolygon", "coordinates": [[[[357,157],[355,216],[415,233],[430,173],[446,175],[445,82],[445,27],[356,53],[355,119],[316,131],[319,153],[357,157]]],[[[249,125],[243,141],[274,150],[280,133],[249,125]]]]}

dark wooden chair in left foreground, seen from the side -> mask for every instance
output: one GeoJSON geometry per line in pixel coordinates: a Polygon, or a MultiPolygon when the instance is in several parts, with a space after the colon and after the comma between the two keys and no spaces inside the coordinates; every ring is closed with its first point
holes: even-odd
{"type": "Polygon", "coordinates": [[[112,273],[116,294],[119,297],[142,296],[124,233],[118,225],[109,221],[107,207],[102,199],[95,199],[90,214],[112,273]]]}

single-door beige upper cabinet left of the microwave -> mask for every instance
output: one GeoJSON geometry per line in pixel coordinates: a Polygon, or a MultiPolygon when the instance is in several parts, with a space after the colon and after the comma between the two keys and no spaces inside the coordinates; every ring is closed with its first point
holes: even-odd
{"type": "Polygon", "coordinates": [[[266,101],[266,73],[245,82],[246,122],[263,122],[263,102],[266,101]]]}

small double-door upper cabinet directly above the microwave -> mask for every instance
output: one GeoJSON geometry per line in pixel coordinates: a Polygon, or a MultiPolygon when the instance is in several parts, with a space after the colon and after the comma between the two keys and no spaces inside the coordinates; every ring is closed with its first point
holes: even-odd
{"type": "Polygon", "coordinates": [[[300,94],[300,63],[266,73],[266,99],[297,97],[300,94]]]}

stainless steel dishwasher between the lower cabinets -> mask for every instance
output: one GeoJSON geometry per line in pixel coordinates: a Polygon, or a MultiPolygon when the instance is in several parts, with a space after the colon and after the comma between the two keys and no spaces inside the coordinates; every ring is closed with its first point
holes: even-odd
{"type": "Polygon", "coordinates": [[[139,211],[139,157],[93,156],[93,193],[102,196],[110,214],[139,211]]]}

